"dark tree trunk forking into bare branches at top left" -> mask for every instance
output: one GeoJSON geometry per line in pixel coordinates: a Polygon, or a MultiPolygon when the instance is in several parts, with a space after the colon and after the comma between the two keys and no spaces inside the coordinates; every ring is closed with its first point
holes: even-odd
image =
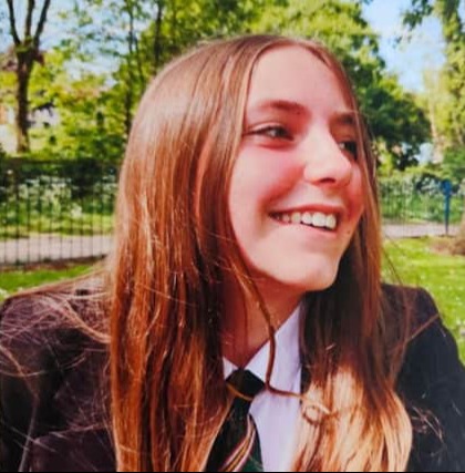
{"type": "Polygon", "coordinates": [[[10,35],[13,42],[11,52],[14,56],[14,72],[17,75],[17,136],[18,152],[23,153],[30,150],[29,142],[29,84],[31,74],[37,62],[43,63],[43,54],[40,51],[40,41],[46,23],[46,16],[51,0],[43,0],[39,10],[39,20],[33,28],[33,17],[35,11],[35,0],[28,0],[23,34],[20,38],[17,21],[18,2],[7,0],[8,18],[10,22],[10,35]]]}

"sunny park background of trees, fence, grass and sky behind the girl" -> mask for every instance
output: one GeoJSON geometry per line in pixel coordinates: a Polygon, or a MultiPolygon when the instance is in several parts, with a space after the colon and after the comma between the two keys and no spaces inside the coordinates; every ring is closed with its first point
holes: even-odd
{"type": "Polygon", "coordinates": [[[283,33],[349,71],[378,156],[384,278],[433,294],[465,360],[464,22],[464,0],[1,0],[0,300],[107,254],[135,109],[167,61],[283,33]]]}

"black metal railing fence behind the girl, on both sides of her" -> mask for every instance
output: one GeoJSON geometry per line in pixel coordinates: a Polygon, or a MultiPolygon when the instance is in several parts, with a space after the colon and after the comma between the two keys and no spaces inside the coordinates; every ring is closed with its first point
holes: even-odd
{"type": "MultiPolygon", "coordinates": [[[[0,268],[106,255],[117,174],[117,165],[99,160],[0,161],[0,268]]],[[[382,179],[385,234],[454,234],[464,191],[431,178],[382,179]]]]}

